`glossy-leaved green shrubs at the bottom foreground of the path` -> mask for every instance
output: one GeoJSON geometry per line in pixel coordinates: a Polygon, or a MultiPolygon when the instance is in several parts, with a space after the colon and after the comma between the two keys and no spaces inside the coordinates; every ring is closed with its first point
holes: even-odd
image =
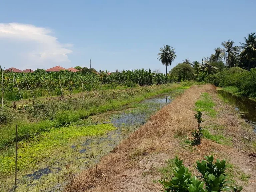
{"type": "MultiPolygon", "coordinates": [[[[213,156],[205,156],[206,161],[197,161],[197,170],[202,174],[204,181],[200,181],[196,176],[192,176],[187,167],[183,165],[183,161],[178,159],[174,160],[176,167],[173,168],[173,177],[168,182],[158,180],[163,185],[164,192],[221,192],[232,191],[240,192],[242,186],[234,186],[230,188],[227,184],[230,181],[226,180],[225,170],[226,161],[219,159],[213,162],[213,156]]],[[[170,174],[170,177],[172,175],[170,174]]],[[[167,177],[169,178],[169,177],[167,177]]]]}

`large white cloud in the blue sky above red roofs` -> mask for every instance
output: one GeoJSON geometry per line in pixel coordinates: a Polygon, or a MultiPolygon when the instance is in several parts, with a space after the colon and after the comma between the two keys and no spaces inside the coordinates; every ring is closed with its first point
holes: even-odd
{"type": "Polygon", "coordinates": [[[58,42],[51,34],[50,29],[34,25],[0,23],[0,52],[4,53],[0,62],[20,69],[65,66],[72,45],[58,42]]]}

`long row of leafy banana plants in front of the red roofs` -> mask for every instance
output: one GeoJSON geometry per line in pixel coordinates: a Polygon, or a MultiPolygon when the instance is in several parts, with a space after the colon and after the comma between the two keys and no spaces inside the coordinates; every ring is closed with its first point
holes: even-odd
{"type": "MultiPolygon", "coordinates": [[[[116,89],[119,86],[137,87],[174,82],[169,75],[156,74],[149,70],[136,69],[109,73],[84,70],[79,72],[59,71],[46,73],[37,69],[33,73],[5,72],[3,75],[4,100],[68,95],[91,90],[116,89]],[[17,83],[16,83],[17,82],[17,83]],[[19,90],[18,90],[19,89],[19,90]],[[32,92],[32,94],[31,94],[32,92]]],[[[2,82],[1,82],[2,84],[2,82]]],[[[1,92],[2,93],[2,92],[1,92]]],[[[1,95],[1,94],[0,94],[1,95]]]]}

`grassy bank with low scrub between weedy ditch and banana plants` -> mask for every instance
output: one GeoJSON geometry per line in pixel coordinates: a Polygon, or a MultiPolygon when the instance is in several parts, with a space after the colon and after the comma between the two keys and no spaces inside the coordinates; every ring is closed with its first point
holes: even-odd
{"type": "Polygon", "coordinates": [[[58,101],[55,103],[48,102],[42,104],[41,108],[27,109],[25,116],[22,112],[16,112],[14,122],[2,125],[0,128],[0,149],[13,143],[15,138],[15,124],[18,124],[18,140],[28,139],[43,131],[49,131],[52,128],[66,125],[72,122],[78,122],[80,119],[87,118],[94,114],[103,113],[109,110],[117,110],[123,106],[134,102],[140,102],[147,98],[168,93],[175,88],[186,88],[185,84],[170,84],[159,86],[148,86],[134,89],[127,89],[122,92],[107,90],[96,94],[89,93],[88,98],[75,101],[58,101]],[[129,93],[132,93],[129,95],[129,93]],[[45,107],[42,107],[45,106],[45,107]],[[42,111],[43,114],[40,112],[42,111]],[[40,113],[40,114],[39,114],[40,113]],[[50,114],[49,114],[50,113],[50,114]],[[39,118],[36,122],[35,116],[39,118]],[[44,117],[45,120],[41,120],[44,117]],[[51,119],[51,120],[50,120],[51,119]]]}

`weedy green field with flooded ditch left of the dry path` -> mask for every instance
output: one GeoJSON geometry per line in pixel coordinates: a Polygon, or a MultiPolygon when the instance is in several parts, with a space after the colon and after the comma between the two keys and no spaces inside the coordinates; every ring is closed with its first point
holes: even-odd
{"type": "MultiPolygon", "coordinates": [[[[32,102],[11,109],[0,132],[0,186],[14,185],[15,125],[18,125],[16,191],[60,190],[69,174],[99,162],[122,139],[188,88],[188,83],[88,91],[84,97],[32,102]]],[[[78,93],[81,95],[81,93],[78,93]]],[[[67,97],[67,96],[66,96],[67,97]]],[[[60,96],[58,97],[60,98],[60,96]]],[[[21,103],[21,101],[18,101],[21,103]]]]}

